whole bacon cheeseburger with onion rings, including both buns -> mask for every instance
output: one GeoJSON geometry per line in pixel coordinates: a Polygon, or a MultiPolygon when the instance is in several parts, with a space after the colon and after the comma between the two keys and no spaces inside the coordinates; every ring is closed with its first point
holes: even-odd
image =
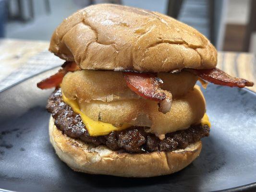
{"type": "Polygon", "coordinates": [[[122,177],[171,174],[199,156],[209,135],[200,80],[253,86],[216,68],[217,51],[194,28],[158,12],[86,7],[54,31],[65,60],[41,81],[57,155],[75,171],[122,177]]]}

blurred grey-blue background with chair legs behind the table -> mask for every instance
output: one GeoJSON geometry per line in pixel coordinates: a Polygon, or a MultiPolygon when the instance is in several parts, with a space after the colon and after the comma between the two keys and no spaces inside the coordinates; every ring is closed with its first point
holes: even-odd
{"type": "Polygon", "coordinates": [[[0,38],[49,41],[64,18],[96,3],[168,14],[195,27],[218,50],[256,53],[256,0],[0,0],[0,38]]]}

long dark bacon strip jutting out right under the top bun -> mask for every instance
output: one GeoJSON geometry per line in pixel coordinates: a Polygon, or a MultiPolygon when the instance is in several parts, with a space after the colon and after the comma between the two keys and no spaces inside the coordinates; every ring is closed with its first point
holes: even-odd
{"type": "Polygon", "coordinates": [[[253,86],[253,82],[249,82],[245,79],[236,78],[228,75],[227,73],[219,70],[218,68],[213,69],[187,69],[187,71],[192,72],[202,78],[203,80],[206,80],[213,84],[219,84],[224,86],[230,86],[230,87],[239,87],[244,88],[245,86],[253,86]]]}

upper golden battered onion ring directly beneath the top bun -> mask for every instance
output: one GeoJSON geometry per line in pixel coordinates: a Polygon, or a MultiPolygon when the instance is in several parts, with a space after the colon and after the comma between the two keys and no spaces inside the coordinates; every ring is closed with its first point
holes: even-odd
{"type": "MultiPolygon", "coordinates": [[[[193,89],[197,76],[190,72],[177,74],[160,72],[163,80],[161,89],[170,91],[173,99],[185,95],[193,89]]],[[[82,102],[93,100],[111,102],[128,99],[141,99],[127,86],[122,72],[82,70],[67,73],[61,84],[62,91],[69,99],[82,102]]]]}

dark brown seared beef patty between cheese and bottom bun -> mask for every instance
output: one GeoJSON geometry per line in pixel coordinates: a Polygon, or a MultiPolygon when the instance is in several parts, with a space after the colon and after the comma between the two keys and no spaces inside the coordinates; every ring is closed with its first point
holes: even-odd
{"type": "Polygon", "coordinates": [[[61,88],[56,89],[51,94],[47,109],[52,114],[56,127],[66,135],[79,138],[85,143],[105,144],[111,150],[129,153],[184,149],[189,144],[195,143],[202,137],[209,135],[209,127],[198,124],[186,130],[168,133],[163,140],[160,140],[155,134],[145,132],[144,127],[137,126],[123,131],[113,131],[108,135],[93,137],[89,135],[80,115],[64,103],[61,88]]]}

